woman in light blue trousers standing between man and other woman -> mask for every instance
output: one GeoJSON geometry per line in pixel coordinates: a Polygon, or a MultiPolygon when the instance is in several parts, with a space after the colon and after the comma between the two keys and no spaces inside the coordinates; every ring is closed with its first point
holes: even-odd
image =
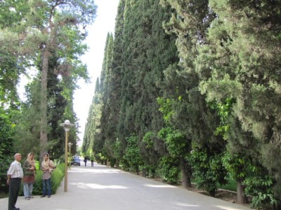
{"type": "Polygon", "coordinates": [[[34,154],[29,153],[27,155],[27,160],[22,165],[23,174],[22,184],[23,184],[23,194],[25,195],[25,200],[30,200],[32,198],[32,190],[35,175],[35,162],[34,154]]]}

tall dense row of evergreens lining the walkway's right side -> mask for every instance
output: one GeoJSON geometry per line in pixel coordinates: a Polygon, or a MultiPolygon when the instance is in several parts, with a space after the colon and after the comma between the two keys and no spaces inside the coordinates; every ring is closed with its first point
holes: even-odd
{"type": "Polygon", "coordinates": [[[281,209],[281,1],[120,0],[82,150],[281,209]]]}

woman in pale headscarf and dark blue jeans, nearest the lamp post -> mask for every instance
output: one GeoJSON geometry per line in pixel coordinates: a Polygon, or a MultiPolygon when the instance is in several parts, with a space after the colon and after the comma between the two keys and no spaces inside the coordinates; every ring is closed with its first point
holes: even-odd
{"type": "Polygon", "coordinates": [[[44,159],[41,163],[41,169],[43,170],[42,175],[42,182],[43,182],[43,189],[41,197],[46,197],[46,193],[48,197],[51,197],[51,172],[55,169],[55,165],[53,161],[49,159],[48,153],[44,154],[44,159]],[[47,188],[47,192],[46,192],[47,188]]]}

